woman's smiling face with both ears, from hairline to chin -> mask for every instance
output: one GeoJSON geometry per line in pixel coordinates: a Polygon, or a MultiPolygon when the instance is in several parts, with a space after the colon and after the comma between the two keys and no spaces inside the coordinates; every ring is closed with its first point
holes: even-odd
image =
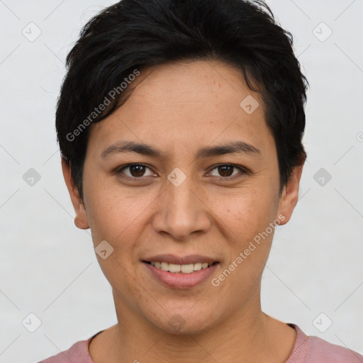
{"type": "Polygon", "coordinates": [[[161,65],[133,86],[91,126],[84,204],[63,163],[76,224],[104,251],[96,256],[118,315],[183,333],[253,316],[274,227],[291,216],[302,167],[279,194],[263,101],[230,65],[161,65]]]}

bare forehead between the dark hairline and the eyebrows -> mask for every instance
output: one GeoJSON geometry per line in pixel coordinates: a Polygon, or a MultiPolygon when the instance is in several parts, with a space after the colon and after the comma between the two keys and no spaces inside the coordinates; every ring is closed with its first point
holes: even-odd
{"type": "Polygon", "coordinates": [[[175,152],[236,138],[262,152],[274,143],[261,96],[230,65],[173,62],[144,69],[130,86],[125,104],[92,125],[89,143],[106,147],[135,140],[175,152]]]}

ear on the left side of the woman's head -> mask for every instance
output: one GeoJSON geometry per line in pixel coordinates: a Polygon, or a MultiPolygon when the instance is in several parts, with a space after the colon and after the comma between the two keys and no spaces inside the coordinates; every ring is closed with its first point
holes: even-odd
{"type": "Polygon", "coordinates": [[[77,187],[73,183],[71,176],[71,168],[67,163],[67,161],[65,160],[65,158],[63,157],[62,157],[62,172],[63,172],[63,177],[65,178],[65,184],[67,184],[67,189],[69,192],[69,196],[71,197],[74,211],[76,212],[76,216],[74,217],[74,224],[78,228],[86,230],[87,228],[89,228],[89,222],[86,210],[84,209],[84,203],[82,201],[81,196],[79,195],[77,187]]]}

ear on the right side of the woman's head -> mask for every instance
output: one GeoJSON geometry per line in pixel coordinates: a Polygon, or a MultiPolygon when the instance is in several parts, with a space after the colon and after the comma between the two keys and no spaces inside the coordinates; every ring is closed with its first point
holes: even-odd
{"type": "Polygon", "coordinates": [[[284,225],[289,222],[296,203],[298,202],[298,186],[303,172],[303,164],[304,162],[301,162],[300,165],[294,167],[288,183],[282,190],[278,216],[282,215],[285,219],[281,221],[280,225],[284,225]]]}

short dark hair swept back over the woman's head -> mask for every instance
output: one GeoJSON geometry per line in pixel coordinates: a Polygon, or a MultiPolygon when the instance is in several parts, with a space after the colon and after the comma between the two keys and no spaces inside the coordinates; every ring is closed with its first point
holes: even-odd
{"type": "Polygon", "coordinates": [[[67,55],[56,111],[60,152],[82,199],[86,126],[122,106],[130,87],[121,92],[120,84],[135,69],[183,60],[225,62],[260,92],[277,148],[281,191],[294,167],[306,159],[302,138],[308,81],[292,45],[291,33],[258,0],[122,0],[91,18],[67,55]],[[107,98],[111,90],[117,92],[107,98]],[[95,113],[106,98],[108,106],[95,113]]]}

